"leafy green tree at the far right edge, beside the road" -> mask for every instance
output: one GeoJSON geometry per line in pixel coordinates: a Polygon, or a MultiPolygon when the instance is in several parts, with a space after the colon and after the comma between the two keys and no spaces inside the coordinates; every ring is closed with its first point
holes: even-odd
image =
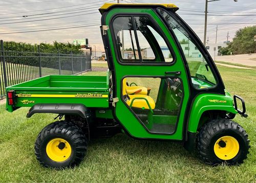
{"type": "Polygon", "coordinates": [[[234,54],[256,53],[256,26],[249,26],[239,29],[233,38],[231,50],[234,54]]]}

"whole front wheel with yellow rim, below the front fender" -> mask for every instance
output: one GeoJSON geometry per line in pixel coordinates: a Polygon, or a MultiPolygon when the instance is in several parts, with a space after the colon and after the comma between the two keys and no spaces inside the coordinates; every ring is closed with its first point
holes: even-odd
{"type": "Polygon", "coordinates": [[[210,165],[241,164],[250,147],[246,131],[228,119],[206,123],[197,135],[197,142],[201,159],[210,165]]]}

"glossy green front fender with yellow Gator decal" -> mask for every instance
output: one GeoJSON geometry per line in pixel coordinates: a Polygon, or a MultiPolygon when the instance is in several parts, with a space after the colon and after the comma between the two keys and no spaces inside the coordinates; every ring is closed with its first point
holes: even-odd
{"type": "Polygon", "coordinates": [[[233,99],[230,95],[201,94],[194,100],[189,115],[188,131],[197,132],[198,124],[203,112],[207,110],[225,110],[238,113],[233,107],[233,99]]]}

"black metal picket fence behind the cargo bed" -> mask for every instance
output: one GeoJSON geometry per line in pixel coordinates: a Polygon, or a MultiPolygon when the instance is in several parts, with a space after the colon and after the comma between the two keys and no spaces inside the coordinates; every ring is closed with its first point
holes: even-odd
{"type": "Polygon", "coordinates": [[[5,50],[0,42],[0,99],[5,96],[5,87],[47,75],[77,75],[91,71],[90,52],[84,54],[42,53],[40,46],[5,50]],[[20,51],[19,51],[20,50],[20,51]]]}

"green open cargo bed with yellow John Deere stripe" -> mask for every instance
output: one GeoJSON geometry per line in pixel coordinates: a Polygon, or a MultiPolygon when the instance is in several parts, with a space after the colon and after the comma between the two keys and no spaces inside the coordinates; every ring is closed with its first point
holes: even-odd
{"type": "Polygon", "coordinates": [[[42,103],[109,107],[109,86],[109,72],[107,76],[45,76],[7,87],[7,92],[14,91],[14,105],[7,102],[7,110],[42,103]]]}

